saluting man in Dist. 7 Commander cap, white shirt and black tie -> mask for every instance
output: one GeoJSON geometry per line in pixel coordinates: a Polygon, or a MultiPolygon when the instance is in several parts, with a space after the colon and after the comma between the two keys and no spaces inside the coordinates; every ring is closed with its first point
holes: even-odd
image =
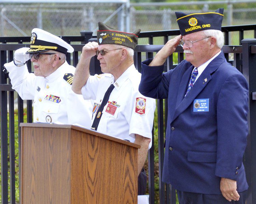
{"type": "Polygon", "coordinates": [[[133,50],[139,33],[140,30],[134,33],[116,31],[99,22],[98,43],[90,42],[83,47],[72,90],[82,94],[84,99],[95,100],[91,129],[141,145],[138,150],[140,195],[145,194],[146,190],[146,179],[140,180],[140,177],[143,175],[141,169],[147,150],[152,145],[156,106],[154,99],[147,98],[138,91],[141,74],[134,67],[133,50]],[[96,54],[104,74],[90,76],[90,58],[96,54]],[[109,91],[111,86],[112,90],[109,91]],[[105,100],[108,92],[110,93],[105,100]]]}

